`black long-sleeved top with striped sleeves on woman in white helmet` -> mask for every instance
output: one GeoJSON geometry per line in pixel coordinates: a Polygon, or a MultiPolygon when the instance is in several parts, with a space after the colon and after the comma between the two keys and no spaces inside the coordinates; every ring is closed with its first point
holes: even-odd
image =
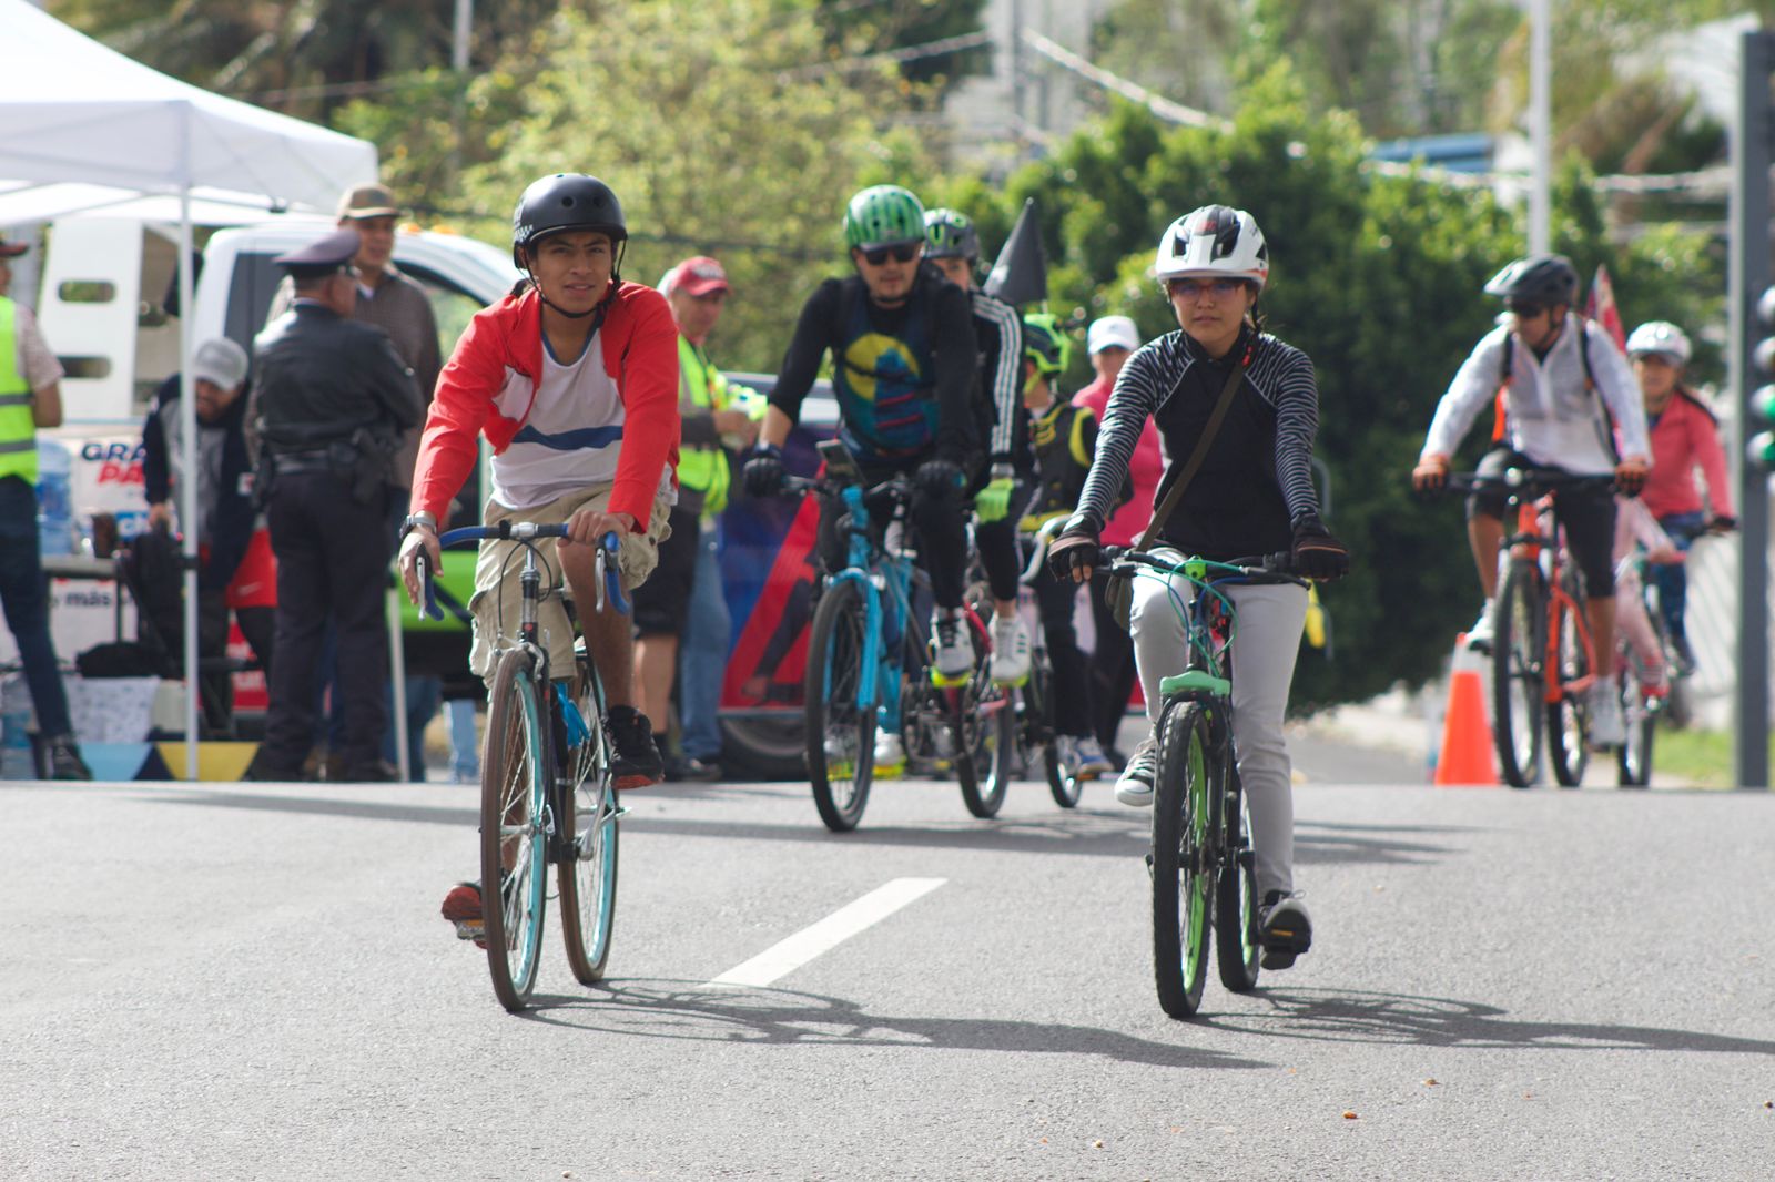
{"type": "Polygon", "coordinates": [[[1164,500],[1195,453],[1234,364],[1244,366],[1241,389],[1161,536],[1186,554],[1211,559],[1289,550],[1294,522],[1319,511],[1312,477],[1319,385],[1306,353],[1253,328],[1218,362],[1182,332],[1170,332],[1127,359],[1072,522],[1100,532],[1148,417],[1159,428],[1164,453],[1154,504],[1164,500]]]}

